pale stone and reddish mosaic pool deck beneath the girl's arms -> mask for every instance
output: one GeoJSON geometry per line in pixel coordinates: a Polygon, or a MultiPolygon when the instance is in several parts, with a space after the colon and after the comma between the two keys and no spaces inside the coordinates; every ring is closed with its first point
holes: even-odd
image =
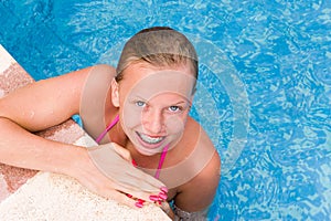
{"type": "MultiPolygon", "coordinates": [[[[15,60],[6,51],[6,49],[0,44],[0,97],[4,96],[6,94],[22,87],[26,84],[30,84],[33,82],[33,78],[22,69],[22,66],[20,64],[18,64],[18,62],[15,62],[15,60]]],[[[89,139],[88,135],[85,134],[85,131],[74,122],[74,120],[67,120],[58,126],[49,128],[44,131],[39,133],[40,136],[45,137],[47,139],[53,139],[53,140],[57,140],[57,141],[63,141],[63,143],[67,143],[67,144],[79,144],[79,140],[82,143],[82,140],[84,139],[84,144],[86,144],[86,140],[89,139]]],[[[35,198],[34,201],[36,201],[39,198],[36,198],[35,196],[33,197],[33,194],[31,192],[33,192],[33,189],[36,189],[39,187],[39,185],[43,183],[45,180],[49,180],[50,182],[50,177],[52,178],[51,181],[56,183],[53,186],[50,185],[50,189],[45,189],[43,191],[54,191],[54,189],[58,188],[72,188],[75,189],[77,186],[79,186],[79,183],[70,180],[66,181],[67,179],[57,175],[50,175],[50,173],[44,173],[44,172],[40,172],[40,171],[35,171],[35,170],[29,170],[29,169],[22,169],[22,168],[15,168],[15,167],[11,167],[8,165],[3,165],[0,164],[0,220],[1,218],[6,218],[8,219],[19,219],[21,218],[20,215],[25,215],[26,220],[26,211],[29,207],[33,207],[33,210],[36,210],[38,208],[40,210],[45,210],[45,208],[42,208],[40,206],[33,206],[33,201],[32,203],[30,202],[30,206],[26,204],[25,206],[25,210],[22,209],[18,209],[18,207],[14,207],[12,204],[14,204],[14,202],[17,201],[18,203],[21,203],[20,201],[24,200],[29,200],[31,198],[35,198]],[[58,185],[60,183],[60,185],[58,185]],[[64,183],[65,187],[61,187],[61,183],[64,183]],[[28,196],[26,192],[30,191],[30,196],[28,196]],[[24,199],[24,196],[26,199],[24,199]],[[36,208],[38,207],[38,208],[36,208]],[[3,215],[3,213],[1,214],[1,210],[2,212],[6,211],[7,217],[1,217],[3,215]],[[11,210],[11,211],[9,211],[11,210]],[[11,214],[9,214],[11,212],[11,214]],[[25,214],[17,214],[17,213],[25,213],[25,214]]],[[[86,193],[84,191],[86,190],[81,190],[84,188],[76,188],[76,192],[75,191],[68,191],[66,192],[67,194],[81,194],[81,192],[83,191],[83,197],[76,197],[76,196],[71,196],[72,200],[79,200],[81,201],[81,207],[84,208],[85,206],[82,204],[82,202],[84,200],[87,199],[87,204],[86,207],[90,208],[95,206],[95,213],[93,212],[88,212],[88,219],[90,220],[103,220],[103,214],[105,214],[105,218],[109,219],[109,214],[113,214],[113,219],[111,220],[170,220],[159,208],[157,208],[156,206],[152,207],[145,207],[143,209],[130,209],[128,207],[122,207],[120,204],[116,204],[113,203],[111,209],[107,208],[105,204],[109,206],[109,201],[103,201],[99,199],[99,197],[94,196],[93,193],[86,193]],[[85,196],[85,198],[84,198],[85,196]],[[86,196],[88,196],[86,198],[86,196]],[[88,200],[92,199],[92,200],[88,200]],[[96,200],[97,199],[97,200],[96,200]],[[93,201],[97,201],[95,202],[95,204],[93,206],[90,202],[93,201]],[[102,204],[102,207],[100,207],[102,204]],[[102,208],[103,210],[111,210],[109,211],[109,213],[107,213],[107,211],[98,211],[98,208],[102,208]],[[97,214],[96,217],[90,217],[97,214]],[[126,215],[129,217],[126,218],[126,215]],[[137,219],[136,219],[137,218],[137,219]]],[[[56,191],[55,191],[56,192],[56,191]]],[[[65,192],[65,191],[63,191],[65,192]]],[[[50,192],[51,193],[51,192],[50,192]]],[[[64,194],[66,194],[64,193],[64,194]]],[[[63,197],[65,198],[65,196],[63,197]]],[[[57,198],[58,200],[61,200],[61,198],[57,198]]],[[[47,199],[50,200],[50,199],[47,199]]],[[[53,200],[56,200],[55,197],[53,200]]],[[[63,199],[62,199],[63,200],[63,199]]],[[[42,199],[41,199],[42,201],[42,199]]],[[[53,201],[54,202],[54,201],[53,201]]],[[[42,202],[42,203],[46,203],[42,202]]],[[[55,201],[56,203],[56,201],[55,201]]],[[[62,201],[58,202],[60,204],[63,203],[62,201]]],[[[70,203],[70,202],[68,202],[70,203]]],[[[35,203],[38,204],[38,202],[35,203]]],[[[111,203],[110,203],[111,204],[111,203]]],[[[67,204],[65,209],[67,209],[67,207],[77,207],[77,204],[74,204],[74,202],[72,202],[72,204],[67,204]]],[[[52,207],[51,207],[52,208],[52,207]]],[[[102,210],[100,209],[100,210],[102,210]]],[[[84,210],[84,209],[83,209],[84,210]]],[[[76,210],[68,210],[68,212],[71,211],[76,211],[76,210]]],[[[38,211],[35,211],[34,213],[31,213],[31,208],[29,209],[30,212],[30,218],[29,219],[38,219],[40,217],[33,217],[33,215],[40,215],[42,213],[39,213],[38,211]]],[[[44,212],[44,211],[41,211],[44,212]]],[[[49,213],[52,213],[50,211],[47,211],[49,213]]],[[[45,220],[56,220],[54,218],[51,219],[50,214],[47,213],[47,217],[50,219],[45,219],[45,220]]],[[[56,211],[56,215],[58,220],[62,220],[64,217],[58,217],[58,211],[56,211]]],[[[79,211],[79,214],[84,214],[84,211],[79,211]]],[[[54,214],[55,214],[55,210],[54,210],[54,214]]],[[[64,214],[64,213],[63,213],[64,214]]],[[[68,219],[74,218],[76,214],[72,214],[73,217],[66,217],[68,219]]],[[[87,213],[86,213],[87,215],[87,213]]],[[[85,217],[86,217],[85,215],[85,217]]],[[[84,217],[84,215],[83,215],[84,217]]],[[[77,218],[77,217],[76,217],[77,218]]],[[[87,218],[87,217],[86,217],[87,218]]],[[[22,219],[20,219],[22,220],[22,219]]],[[[23,219],[24,220],[24,219],[23,219]]],[[[79,219],[82,220],[82,219],[79,219]]]]}

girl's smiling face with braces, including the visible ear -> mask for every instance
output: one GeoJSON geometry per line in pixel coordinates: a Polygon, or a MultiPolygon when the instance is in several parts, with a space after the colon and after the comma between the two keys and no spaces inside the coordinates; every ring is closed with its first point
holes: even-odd
{"type": "Polygon", "coordinates": [[[124,72],[120,83],[111,85],[124,131],[142,155],[161,152],[168,144],[173,147],[183,135],[193,98],[190,69],[137,63],[124,72]]]}

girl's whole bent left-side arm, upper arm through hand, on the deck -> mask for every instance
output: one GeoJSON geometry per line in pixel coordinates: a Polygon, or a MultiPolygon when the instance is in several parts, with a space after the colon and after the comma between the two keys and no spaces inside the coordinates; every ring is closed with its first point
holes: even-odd
{"type": "Polygon", "coordinates": [[[78,114],[89,71],[90,67],[40,81],[0,99],[0,162],[68,175],[95,193],[126,204],[132,206],[135,201],[120,191],[148,201],[149,194],[159,193],[161,182],[146,177],[146,180],[139,180],[141,177],[132,180],[145,183],[148,191],[135,189],[130,183],[124,186],[117,181],[118,177],[110,179],[98,170],[86,148],[47,140],[33,134],[78,114]]]}

